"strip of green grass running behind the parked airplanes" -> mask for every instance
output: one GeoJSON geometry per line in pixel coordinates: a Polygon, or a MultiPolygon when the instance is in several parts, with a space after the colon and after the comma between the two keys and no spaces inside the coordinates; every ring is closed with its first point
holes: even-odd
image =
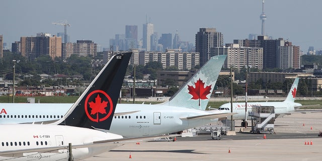
{"type": "MultiPolygon", "coordinates": [[[[27,103],[27,98],[28,97],[15,97],[15,103],[27,103]]],[[[34,97],[35,98],[35,103],[38,103],[38,100],[40,103],[74,103],[77,99],[78,96],[48,96],[48,97],[34,97]]],[[[300,103],[302,105],[317,105],[321,104],[321,100],[296,100],[296,103],[300,103]]],[[[12,97],[8,96],[0,96],[0,103],[12,103],[12,97]]],[[[131,104],[133,103],[132,101],[126,102],[122,101],[123,104],[131,104]]],[[[140,101],[136,101],[136,104],[142,104],[140,101]]],[[[144,102],[144,104],[158,104],[161,102],[144,102]]],[[[224,102],[224,101],[211,101],[208,103],[207,107],[212,107],[212,108],[218,108],[220,105],[223,105],[225,103],[229,102],[224,102]]],[[[317,106],[317,107],[310,107],[309,109],[322,109],[322,106],[317,106]]]]}

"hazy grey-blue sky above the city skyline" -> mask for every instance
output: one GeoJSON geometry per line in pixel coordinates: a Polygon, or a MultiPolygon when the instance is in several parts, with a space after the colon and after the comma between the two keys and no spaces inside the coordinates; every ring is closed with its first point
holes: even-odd
{"type": "MultiPolygon", "coordinates": [[[[137,25],[141,39],[146,16],[159,36],[178,30],[182,41],[193,44],[199,28],[216,28],[224,43],[261,33],[262,0],[3,0],[0,7],[0,35],[8,45],[40,32],[56,35],[64,27],[52,23],[67,20],[71,42],[108,47],[115,34],[125,34],[125,25],[137,25]]],[[[289,39],[304,53],[309,46],[322,49],[321,7],[320,0],[265,0],[265,33],[289,39]]]]}

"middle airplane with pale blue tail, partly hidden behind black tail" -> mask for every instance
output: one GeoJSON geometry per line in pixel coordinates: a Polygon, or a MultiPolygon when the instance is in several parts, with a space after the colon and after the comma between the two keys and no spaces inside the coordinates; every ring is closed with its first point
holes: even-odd
{"type": "MultiPolygon", "coordinates": [[[[211,57],[168,102],[157,105],[117,104],[115,115],[118,116],[114,115],[110,129],[104,131],[124,137],[153,136],[203,126],[233,115],[218,110],[202,110],[208,104],[225,59],[226,55],[211,57]]],[[[61,118],[71,105],[0,104],[3,108],[0,123],[52,122],[61,118]]]]}

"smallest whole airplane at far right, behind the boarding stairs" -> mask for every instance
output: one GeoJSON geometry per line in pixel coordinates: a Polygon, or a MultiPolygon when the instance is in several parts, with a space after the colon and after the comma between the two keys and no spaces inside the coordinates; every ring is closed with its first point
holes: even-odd
{"type": "MultiPolygon", "coordinates": [[[[274,107],[274,112],[276,117],[280,117],[286,114],[291,114],[294,113],[296,110],[298,110],[302,106],[299,103],[295,103],[295,96],[296,96],[296,91],[297,91],[297,84],[298,84],[299,78],[296,77],[294,80],[294,83],[291,87],[291,90],[289,91],[286,99],[282,102],[248,102],[247,103],[247,111],[250,112],[252,111],[252,107],[254,106],[273,106],[274,107]]],[[[247,122],[245,120],[250,120],[251,117],[248,116],[247,119],[245,119],[245,102],[236,102],[232,103],[232,112],[236,113],[235,115],[232,116],[233,120],[243,120],[241,122],[241,126],[245,127],[245,123],[247,125],[247,122]]],[[[223,111],[223,112],[230,112],[230,103],[223,104],[219,106],[218,110],[223,111]]],[[[228,118],[230,119],[230,118],[228,118]]]]}

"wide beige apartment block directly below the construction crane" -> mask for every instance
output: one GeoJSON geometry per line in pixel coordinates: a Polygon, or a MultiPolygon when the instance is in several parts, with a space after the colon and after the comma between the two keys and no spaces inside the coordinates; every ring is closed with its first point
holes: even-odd
{"type": "Polygon", "coordinates": [[[97,44],[92,40],[77,40],[76,43],[63,43],[63,59],[70,57],[71,54],[76,54],[77,56],[95,56],[97,54],[97,44]]]}

